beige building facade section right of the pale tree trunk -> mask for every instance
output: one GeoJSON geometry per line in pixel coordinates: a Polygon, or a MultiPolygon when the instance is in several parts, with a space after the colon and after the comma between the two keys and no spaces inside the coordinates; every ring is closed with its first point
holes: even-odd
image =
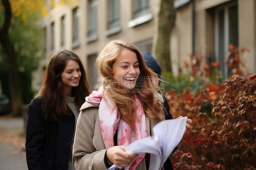
{"type": "Polygon", "coordinates": [[[229,45],[240,51],[247,73],[256,72],[256,0],[175,0],[176,23],[171,35],[173,72],[178,74],[189,54],[202,56],[204,63],[220,61],[220,70],[229,73],[226,52],[229,45]],[[246,57],[244,57],[246,56],[246,57]]]}

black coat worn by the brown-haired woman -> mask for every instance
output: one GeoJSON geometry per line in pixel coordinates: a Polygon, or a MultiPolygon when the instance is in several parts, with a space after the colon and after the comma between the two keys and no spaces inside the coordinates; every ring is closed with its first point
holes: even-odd
{"type": "Polygon", "coordinates": [[[26,160],[29,170],[67,170],[75,128],[75,115],[45,119],[42,102],[28,106],[26,160]]]}

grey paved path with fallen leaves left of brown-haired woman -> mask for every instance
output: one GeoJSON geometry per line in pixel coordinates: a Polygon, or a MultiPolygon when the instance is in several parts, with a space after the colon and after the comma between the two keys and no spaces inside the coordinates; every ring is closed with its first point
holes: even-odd
{"type": "MultiPolygon", "coordinates": [[[[22,118],[0,116],[2,138],[5,137],[6,134],[23,132],[23,128],[24,120],[22,118]]],[[[17,151],[22,149],[24,149],[24,147],[22,148],[20,145],[10,145],[4,139],[0,138],[0,170],[28,170],[25,154],[17,154],[17,151]]]]}

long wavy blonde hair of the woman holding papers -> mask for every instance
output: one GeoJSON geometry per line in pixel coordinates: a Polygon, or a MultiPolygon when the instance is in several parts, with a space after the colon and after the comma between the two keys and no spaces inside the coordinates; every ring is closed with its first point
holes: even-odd
{"type": "Polygon", "coordinates": [[[129,125],[134,125],[133,112],[135,110],[133,107],[135,102],[131,98],[131,93],[138,96],[138,99],[142,103],[144,113],[149,119],[164,119],[163,99],[158,93],[161,93],[161,90],[158,85],[154,84],[154,79],[159,80],[159,78],[154,71],[146,67],[143,57],[135,45],[124,40],[113,40],[108,42],[97,56],[96,66],[101,75],[100,85],[103,85],[103,87],[106,87],[106,85],[112,86],[112,91],[106,91],[105,89],[103,96],[108,95],[116,103],[120,116],[129,125]],[[117,57],[124,48],[136,53],[140,70],[140,81],[137,80],[134,89],[130,90],[129,93],[124,93],[123,88],[119,86],[113,78],[113,63],[117,60],[117,57]]]}

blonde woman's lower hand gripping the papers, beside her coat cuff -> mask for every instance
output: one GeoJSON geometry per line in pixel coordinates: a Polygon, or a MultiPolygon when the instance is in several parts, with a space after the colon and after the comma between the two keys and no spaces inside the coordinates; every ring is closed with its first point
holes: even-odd
{"type": "Polygon", "coordinates": [[[106,152],[107,160],[117,166],[128,166],[138,156],[138,154],[128,154],[125,151],[126,146],[113,146],[106,152]]]}

